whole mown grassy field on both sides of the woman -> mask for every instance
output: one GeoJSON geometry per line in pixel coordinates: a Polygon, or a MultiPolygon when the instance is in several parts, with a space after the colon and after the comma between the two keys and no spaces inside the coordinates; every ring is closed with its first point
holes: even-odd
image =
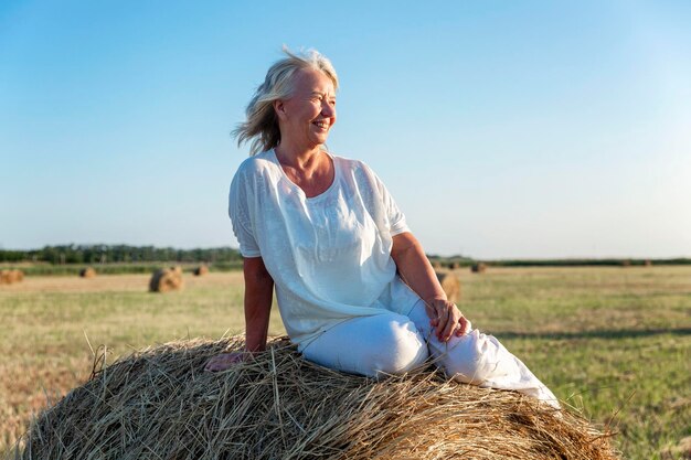
{"type": "MultiPolygon", "coordinates": [[[[691,267],[458,271],[460,309],[561,399],[617,431],[627,459],[682,458],[691,436],[691,267]]],[[[32,413],[108,361],[187,336],[242,331],[242,274],[185,274],[182,292],[148,276],[28,277],[0,286],[0,457],[32,413]]],[[[270,333],[281,334],[277,310],[270,333]]]]}

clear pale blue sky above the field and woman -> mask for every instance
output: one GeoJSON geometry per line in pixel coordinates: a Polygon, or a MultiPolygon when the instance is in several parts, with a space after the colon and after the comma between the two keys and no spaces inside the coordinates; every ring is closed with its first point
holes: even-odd
{"type": "Polygon", "coordinates": [[[427,253],[691,256],[691,2],[0,2],[0,247],[235,246],[230,132],[283,44],[427,253]]]}

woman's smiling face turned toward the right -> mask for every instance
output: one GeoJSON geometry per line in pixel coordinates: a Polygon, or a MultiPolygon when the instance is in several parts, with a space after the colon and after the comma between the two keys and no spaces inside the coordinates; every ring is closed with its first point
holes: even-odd
{"type": "Polygon", "coordinates": [[[274,108],[280,120],[280,138],[301,147],[322,145],[336,124],[336,90],[326,74],[300,69],[289,99],[276,101],[274,108]]]}

